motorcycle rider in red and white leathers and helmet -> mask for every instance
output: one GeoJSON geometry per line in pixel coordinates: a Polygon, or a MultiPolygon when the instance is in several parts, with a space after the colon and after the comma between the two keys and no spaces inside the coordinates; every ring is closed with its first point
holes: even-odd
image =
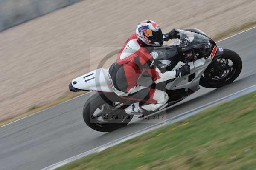
{"type": "Polygon", "coordinates": [[[165,91],[137,85],[143,69],[155,83],[177,79],[190,73],[189,65],[164,73],[154,67],[154,58],[157,57],[157,53],[150,53],[150,47],[160,47],[163,41],[172,38],[178,38],[176,29],[162,34],[160,27],[154,21],[142,21],[137,25],[136,34],[129,37],[119,52],[116,62],[109,68],[114,92],[120,97],[139,101],[125,109],[127,114],[155,111],[165,105],[169,99],[165,91]]]}

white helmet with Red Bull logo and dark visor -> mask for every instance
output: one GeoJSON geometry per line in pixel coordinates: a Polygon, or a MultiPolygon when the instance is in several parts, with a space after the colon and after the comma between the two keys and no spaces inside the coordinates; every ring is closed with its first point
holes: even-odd
{"type": "Polygon", "coordinates": [[[163,34],[154,21],[147,20],[141,21],[137,25],[136,35],[138,41],[145,43],[146,45],[160,47],[163,45],[163,34]]]}

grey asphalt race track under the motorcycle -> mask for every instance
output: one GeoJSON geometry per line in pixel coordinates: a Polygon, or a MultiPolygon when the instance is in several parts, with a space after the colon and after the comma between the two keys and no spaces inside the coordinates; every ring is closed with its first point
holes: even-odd
{"type": "MultiPolygon", "coordinates": [[[[160,115],[168,119],[256,84],[256,28],[221,41],[218,46],[241,56],[243,69],[239,78],[222,88],[201,88],[160,115]]],[[[139,119],[111,133],[94,131],[87,127],[81,114],[89,96],[0,127],[0,170],[40,170],[152,125],[139,119]]]]}

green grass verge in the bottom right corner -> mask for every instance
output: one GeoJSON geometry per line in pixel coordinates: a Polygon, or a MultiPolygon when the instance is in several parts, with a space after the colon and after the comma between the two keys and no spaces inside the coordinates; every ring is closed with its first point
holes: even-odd
{"type": "Polygon", "coordinates": [[[57,170],[256,170],[256,92],[57,170]]]}

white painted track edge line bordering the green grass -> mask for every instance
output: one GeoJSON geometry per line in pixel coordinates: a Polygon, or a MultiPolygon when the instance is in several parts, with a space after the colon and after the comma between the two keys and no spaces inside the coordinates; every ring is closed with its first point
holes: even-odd
{"type": "MultiPolygon", "coordinates": [[[[139,136],[139,135],[141,135],[141,134],[143,134],[143,133],[147,133],[147,132],[149,132],[149,131],[151,131],[151,130],[154,130],[154,129],[156,129],[156,128],[159,128],[159,127],[161,127],[161,126],[163,126],[163,125],[172,124],[172,123],[174,123],[174,122],[179,121],[180,119],[185,119],[185,118],[187,118],[187,117],[189,117],[189,116],[192,116],[192,115],[194,115],[194,114],[196,114],[196,113],[202,111],[202,110],[205,109],[205,108],[209,108],[209,107],[212,107],[212,106],[214,106],[214,105],[217,105],[217,104],[219,104],[219,103],[221,103],[221,102],[229,101],[229,100],[232,100],[232,99],[234,99],[234,98],[238,98],[238,97],[240,97],[240,96],[243,96],[244,94],[250,93],[251,91],[254,91],[255,89],[256,89],[256,85],[252,85],[252,86],[250,86],[250,87],[248,87],[248,88],[245,88],[245,89],[243,89],[243,90],[237,91],[236,93],[233,93],[233,94],[230,94],[230,95],[228,95],[228,96],[222,97],[221,99],[217,99],[217,100],[215,100],[215,101],[213,101],[213,102],[207,103],[207,104],[202,105],[202,106],[200,106],[200,107],[198,107],[198,108],[192,109],[192,110],[187,111],[187,112],[185,112],[185,113],[182,113],[182,114],[180,114],[180,115],[177,115],[177,116],[174,116],[174,117],[172,117],[172,118],[166,119],[166,120],[164,120],[164,121],[162,121],[162,122],[159,122],[159,123],[157,123],[157,124],[155,124],[155,125],[151,125],[151,126],[149,126],[149,127],[145,127],[144,129],[138,130],[138,131],[136,131],[136,132],[134,132],[134,133],[131,133],[131,134],[126,135],[126,136],[123,136],[123,137],[121,137],[121,138],[119,138],[119,139],[115,139],[115,140],[113,140],[113,141],[111,141],[111,142],[108,142],[107,144],[103,144],[102,146],[93,148],[93,149],[88,150],[88,151],[86,151],[86,152],[84,152],[84,153],[80,153],[79,155],[76,155],[76,156],[73,156],[73,157],[71,157],[71,158],[65,159],[64,161],[60,161],[60,162],[58,162],[58,163],[52,164],[52,165],[50,165],[49,167],[45,167],[45,168],[43,168],[43,169],[41,169],[41,170],[54,170],[54,169],[56,169],[56,168],[58,168],[58,167],[61,167],[61,166],[65,165],[65,164],[68,164],[68,163],[70,163],[70,162],[72,162],[72,161],[75,161],[75,160],[77,160],[77,159],[80,159],[80,158],[82,158],[82,157],[84,157],[84,156],[87,156],[87,155],[89,155],[89,154],[96,153],[96,152],[101,152],[102,150],[105,150],[105,149],[107,149],[107,148],[109,148],[109,147],[112,147],[112,146],[114,146],[114,145],[116,145],[116,144],[125,142],[125,141],[127,141],[127,140],[129,140],[129,139],[132,139],[132,138],[134,138],[134,137],[136,137],[136,136],[139,136]],[[235,96],[235,95],[237,95],[237,94],[238,94],[238,96],[232,98],[232,96],[235,96]]],[[[164,110],[167,110],[167,109],[168,109],[168,108],[163,109],[163,110],[161,110],[161,111],[164,111],[164,110]]],[[[156,113],[157,113],[157,112],[156,112],[156,113]]]]}

